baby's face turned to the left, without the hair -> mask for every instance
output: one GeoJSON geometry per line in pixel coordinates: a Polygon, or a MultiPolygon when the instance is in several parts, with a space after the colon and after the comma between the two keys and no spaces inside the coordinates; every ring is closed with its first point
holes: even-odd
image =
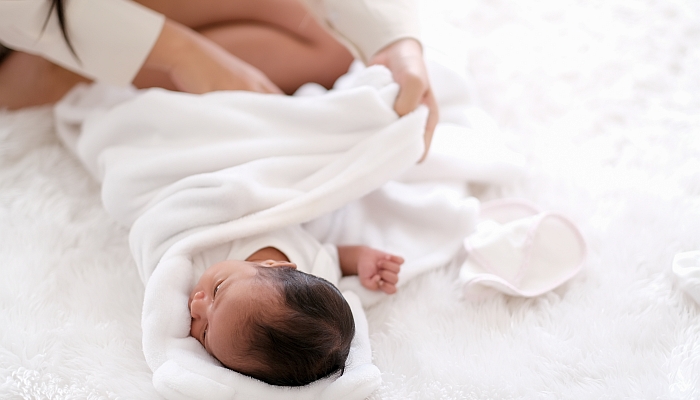
{"type": "Polygon", "coordinates": [[[190,335],[207,352],[234,370],[242,357],[248,315],[275,303],[271,285],[256,280],[258,268],[296,265],[288,261],[250,262],[227,260],[207,269],[192,289],[189,299],[192,326],[190,335]]]}

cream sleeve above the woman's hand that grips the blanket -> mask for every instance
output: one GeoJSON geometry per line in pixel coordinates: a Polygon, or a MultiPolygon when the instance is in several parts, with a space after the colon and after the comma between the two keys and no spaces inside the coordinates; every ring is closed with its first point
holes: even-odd
{"type": "Polygon", "coordinates": [[[415,0],[306,0],[355,56],[365,63],[385,46],[404,38],[420,41],[415,0]]]}

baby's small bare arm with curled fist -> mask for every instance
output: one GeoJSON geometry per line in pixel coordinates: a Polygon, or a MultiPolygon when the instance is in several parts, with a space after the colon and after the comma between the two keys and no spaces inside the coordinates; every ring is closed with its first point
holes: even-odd
{"type": "Polygon", "coordinates": [[[370,290],[396,293],[403,258],[367,246],[338,246],[343,276],[357,275],[370,290]]]}

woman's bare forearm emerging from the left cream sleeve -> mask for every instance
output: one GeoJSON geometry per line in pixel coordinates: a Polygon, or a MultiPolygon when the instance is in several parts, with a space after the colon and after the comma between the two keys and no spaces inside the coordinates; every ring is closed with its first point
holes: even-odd
{"type": "Polygon", "coordinates": [[[257,68],[199,33],[167,19],[144,68],[167,73],[178,90],[188,93],[215,90],[282,93],[257,68]]]}

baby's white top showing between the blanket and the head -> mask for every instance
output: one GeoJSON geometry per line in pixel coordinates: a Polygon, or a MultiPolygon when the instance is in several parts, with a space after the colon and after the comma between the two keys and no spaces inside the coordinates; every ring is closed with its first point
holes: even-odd
{"type": "Polygon", "coordinates": [[[192,256],[195,274],[224,260],[245,260],[265,247],[274,247],[284,253],[297,269],[321,277],[334,285],[340,280],[338,251],[334,245],[321,244],[299,225],[274,232],[253,235],[224,243],[192,256]]]}

